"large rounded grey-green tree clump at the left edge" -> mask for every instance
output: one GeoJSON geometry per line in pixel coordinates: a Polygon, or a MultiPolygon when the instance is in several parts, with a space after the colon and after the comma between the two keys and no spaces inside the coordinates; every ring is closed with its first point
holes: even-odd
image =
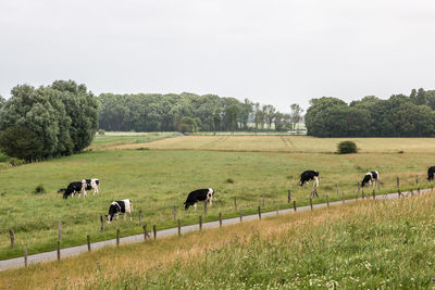
{"type": "Polygon", "coordinates": [[[0,98],[0,149],[25,161],[77,153],[92,141],[97,114],[97,99],[85,85],[18,85],[7,101],[0,98]]]}

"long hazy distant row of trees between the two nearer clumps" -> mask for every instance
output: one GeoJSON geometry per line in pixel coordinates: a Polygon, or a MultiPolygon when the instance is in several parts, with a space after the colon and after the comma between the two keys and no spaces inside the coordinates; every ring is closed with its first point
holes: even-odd
{"type": "Polygon", "coordinates": [[[297,104],[293,114],[283,114],[271,104],[261,105],[248,99],[187,92],[102,93],[98,100],[99,127],[116,131],[284,131],[298,123],[302,113],[297,104]]]}

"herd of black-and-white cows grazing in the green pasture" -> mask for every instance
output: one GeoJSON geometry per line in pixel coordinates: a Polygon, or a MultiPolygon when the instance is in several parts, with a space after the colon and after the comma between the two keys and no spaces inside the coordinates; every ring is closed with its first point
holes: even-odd
{"type": "MultiPolygon", "coordinates": [[[[435,179],[435,166],[432,166],[427,169],[427,180],[433,181],[435,179]]],[[[304,171],[300,175],[299,185],[303,186],[308,184],[308,181],[313,180],[313,187],[316,188],[319,186],[319,172],[318,171],[304,171]]],[[[364,175],[364,178],[360,182],[361,187],[369,185],[375,187],[380,182],[380,173],[376,171],[368,172],[364,175]]],[[[78,197],[83,193],[84,197],[87,196],[86,190],[94,189],[94,194],[98,194],[99,189],[98,186],[100,185],[100,180],[97,178],[92,179],[83,179],[82,181],[74,181],[71,182],[66,188],[59,189],[58,192],[63,192],[63,198],[67,199],[70,196],[74,197],[77,193],[78,197]]],[[[189,206],[194,206],[195,211],[197,210],[198,202],[202,201],[204,203],[210,203],[212,205],[214,197],[214,190],[212,188],[204,188],[204,189],[197,189],[191,191],[188,196],[186,201],[184,202],[184,209],[187,210],[189,206]]],[[[129,219],[132,218],[133,212],[133,203],[130,200],[119,200],[114,201],[109,206],[109,214],[105,215],[108,223],[110,224],[113,218],[119,217],[120,214],[124,215],[124,219],[126,214],[129,214],[129,219]]]]}

